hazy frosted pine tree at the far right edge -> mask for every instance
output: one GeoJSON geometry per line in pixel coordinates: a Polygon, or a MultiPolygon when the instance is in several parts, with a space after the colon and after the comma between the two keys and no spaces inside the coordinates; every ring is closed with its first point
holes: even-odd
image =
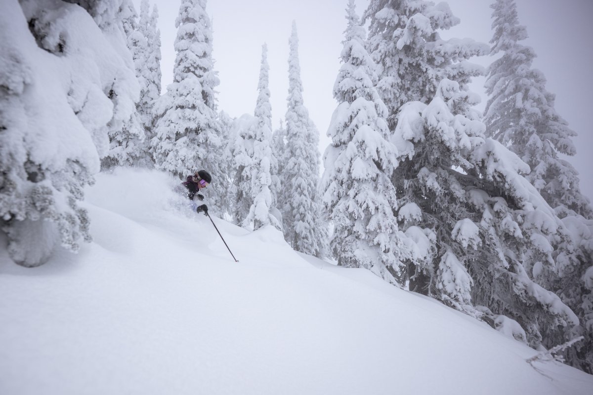
{"type": "Polygon", "coordinates": [[[527,29],[519,24],[515,2],[498,0],[491,8],[494,35],[490,53],[502,56],[488,69],[489,100],[484,118],[487,134],[530,166],[527,178],[571,232],[576,248],[559,253],[557,274],[546,273],[538,282],[554,287],[578,315],[580,325],[568,328],[565,338],[556,342],[585,336],[583,342],[569,349],[567,361],[593,372],[593,287],[586,283],[586,272],[593,267],[593,243],[588,230],[593,211],[579,190],[575,168],[559,156],[575,155],[572,137],[576,133],[556,113],[554,95],[546,90],[543,73],[532,68],[534,50],[520,43],[527,38],[527,29]]]}

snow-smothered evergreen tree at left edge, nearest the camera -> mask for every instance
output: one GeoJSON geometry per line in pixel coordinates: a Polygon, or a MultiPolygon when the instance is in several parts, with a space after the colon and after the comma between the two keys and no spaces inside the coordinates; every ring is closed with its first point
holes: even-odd
{"type": "Polygon", "coordinates": [[[76,252],[91,239],[78,201],[138,98],[127,5],[3,2],[0,226],[18,264],[43,264],[56,245],[76,252]]]}

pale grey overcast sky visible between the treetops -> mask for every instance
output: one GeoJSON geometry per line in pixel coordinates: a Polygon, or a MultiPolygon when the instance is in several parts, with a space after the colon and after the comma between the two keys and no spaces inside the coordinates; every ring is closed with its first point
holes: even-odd
{"type": "MultiPolygon", "coordinates": [[[[177,33],[175,18],[178,1],[150,0],[159,8],[162,41],[162,86],[173,81],[177,33]]],[[[134,0],[139,11],[140,0],[134,0]]],[[[487,43],[492,37],[491,9],[488,0],[449,0],[461,23],[442,36],[470,37],[487,43]]],[[[326,137],[331,113],[336,108],[332,88],[340,67],[341,41],[346,28],[347,0],[210,0],[206,11],[213,20],[213,57],[219,73],[219,110],[231,117],[253,114],[257,98],[262,44],[268,45],[273,127],[286,113],[288,95],[288,37],[292,20],[297,22],[299,59],[304,101],[320,131],[320,151],[329,143],[326,137]]],[[[362,14],[368,0],[357,0],[362,14]]],[[[593,200],[593,134],[588,117],[593,88],[593,1],[591,0],[517,0],[519,21],[527,26],[524,44],[534,48],[538,57],[534,67],[547,78],[548,91],[556,94],[556,110],[579,136],[574,140],[577,155],[569,158],[581,175],[582,191],[593,200]]],[[[476,59],[487,66],[491,59],[476,59]]],[[[472,89],[483,95],[484,79],[472,89]]],[[[485,97],[480,109],[483,109],[485,97]]]]}

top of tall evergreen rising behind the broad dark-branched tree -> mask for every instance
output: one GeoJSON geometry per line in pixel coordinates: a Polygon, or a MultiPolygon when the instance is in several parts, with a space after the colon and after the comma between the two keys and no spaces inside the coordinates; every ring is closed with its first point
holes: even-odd
{"type": "MultiPolygon", "coordinates": [[[[445,2],[371,0],[363,20],[369,22],[367,47],[378,65],[377,89],[391,130],[400,107],[409,101],[430,102],[442,79],[457,81],[466,91],[471,77],[483,74],[482,67],[467,59],[486,54],[486,44],[441,38],[439,31],[460,23],[445,2]]],[[[471,103],[477,101],[473,95],[471,103]]]]}

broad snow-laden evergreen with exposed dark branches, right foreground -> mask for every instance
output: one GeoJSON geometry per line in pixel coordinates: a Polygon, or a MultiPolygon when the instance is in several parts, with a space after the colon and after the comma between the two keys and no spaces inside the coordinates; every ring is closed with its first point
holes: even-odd
{"type": "Polygon", "coordinates": [[[557,272],[557,254],[570,249],[566,227],[521,175],[528,166],[484,139],[482,122],[458,113],[466,107],[467,92],[444,79],[428,105],[410,102],[398,116],[394,180],[412,252],[410,289],[549,346],[578,322],[534,281],[537,272],[557,272]]]}

